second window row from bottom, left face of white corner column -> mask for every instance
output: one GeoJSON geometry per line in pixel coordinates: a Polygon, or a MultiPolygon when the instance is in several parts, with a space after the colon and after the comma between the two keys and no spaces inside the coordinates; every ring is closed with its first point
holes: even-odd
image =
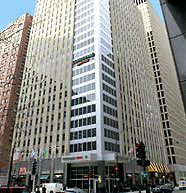
{"type": "Polygon", "coordinates": [[[96,137],[96,128],[70,132],[70,140],[96,137]]]}

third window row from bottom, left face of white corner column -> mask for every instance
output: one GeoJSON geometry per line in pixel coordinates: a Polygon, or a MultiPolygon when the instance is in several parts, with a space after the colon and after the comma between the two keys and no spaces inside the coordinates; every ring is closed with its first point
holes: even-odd
{"type": "Polygon", "coordinates": [[[85,117],[82,119],[73,120],[70,122],[70,128],[77,128],[87,125],[94,125],[96,124],[96,116],[93,117],[85,117]]]}

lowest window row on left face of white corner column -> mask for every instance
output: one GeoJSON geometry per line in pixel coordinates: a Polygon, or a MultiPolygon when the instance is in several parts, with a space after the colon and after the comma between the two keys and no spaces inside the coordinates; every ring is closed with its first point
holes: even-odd
{"type": "Polygon", "coordinates": [[[70,145],[70,153],[96,150],[96,141],[70,145]]]}

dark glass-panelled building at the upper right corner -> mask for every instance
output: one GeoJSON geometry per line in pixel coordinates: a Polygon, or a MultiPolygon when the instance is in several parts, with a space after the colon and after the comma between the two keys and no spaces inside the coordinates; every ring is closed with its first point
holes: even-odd
{"type": "Polygon", "coordinates": [[[160,0],[160,4],[176,64],[182,99],[186,109],[186,2],[184,0],[180,0],[179,2],[160,0]]]}

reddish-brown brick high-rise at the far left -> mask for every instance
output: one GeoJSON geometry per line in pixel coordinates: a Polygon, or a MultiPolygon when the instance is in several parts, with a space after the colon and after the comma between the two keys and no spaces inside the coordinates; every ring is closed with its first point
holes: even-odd
{"type": "Polygon", "coordinates": [[[31,24],[26,13],[0,32],[0,184],[9,164],[31,24]]]}

